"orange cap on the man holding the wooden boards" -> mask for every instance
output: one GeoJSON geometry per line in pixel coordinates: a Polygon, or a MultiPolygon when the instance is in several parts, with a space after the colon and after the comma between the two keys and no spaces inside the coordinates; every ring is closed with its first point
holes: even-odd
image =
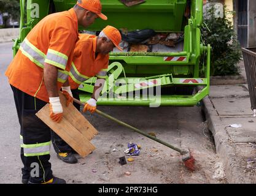
{"type": "Polygon", "coordinates": [[[107,20],[106,15],[101,13],[101,2],[99,0],[78,0],[77,5],[83,9],[96,13],[101,19],[107,20]]]}

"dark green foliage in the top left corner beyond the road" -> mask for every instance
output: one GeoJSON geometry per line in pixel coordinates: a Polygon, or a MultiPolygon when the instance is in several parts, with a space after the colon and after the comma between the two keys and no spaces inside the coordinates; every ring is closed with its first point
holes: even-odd
{"type": "Polygon", "coordinates": [[[20,0],[0,0],[0,12],[7,12],[9,15],[4,17],[4,25],[8,18],[12,17],[13,20],[20,18],[20,0]]]}

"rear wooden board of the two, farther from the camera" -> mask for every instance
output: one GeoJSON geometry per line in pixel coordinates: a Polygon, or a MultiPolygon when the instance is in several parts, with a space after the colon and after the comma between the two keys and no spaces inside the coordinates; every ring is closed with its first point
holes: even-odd
{"type": "Polygon", "coordinates": [[[76,107],[74,107],[74,105],[69,104],[69,106],[66,107],[66,98],[62,93],[60,93],[60,102],[61,105],[63,105],[63,116],[66,116],[69,123],[76,127],[83,137],[91,140],[98,134],[98,130],[89,123],[89,121],[76,109],[76,107]]]}

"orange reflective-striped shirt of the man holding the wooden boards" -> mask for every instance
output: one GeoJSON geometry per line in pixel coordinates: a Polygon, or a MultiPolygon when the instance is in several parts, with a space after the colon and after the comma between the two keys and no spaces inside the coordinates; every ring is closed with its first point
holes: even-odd
{"type": "Polygon", "coordinates": [[[17,55],[6,70],[10,85],[48,102],[44,63],[58,67],[57,83],[60,89],[68,80],[78,36],[74,9],[43,18],[21,43],[17,55]]]}

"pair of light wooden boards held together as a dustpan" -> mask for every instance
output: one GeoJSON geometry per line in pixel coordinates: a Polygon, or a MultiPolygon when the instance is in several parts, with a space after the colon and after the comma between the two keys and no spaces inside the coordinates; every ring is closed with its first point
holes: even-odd
{"type": "Polygon", "coordinates": [[[36,116],[66,141],[80,156],[85,157],[95,149],[95,146],[90,143],[90,140],[98,134],[98,131],[74,105],[69,104],[66,107],[66,98],[61,92],[60,102],[63,107],[63,118],[60,123],[55,123],[50,118],[48,104],[39,110],[36,116]]]}

